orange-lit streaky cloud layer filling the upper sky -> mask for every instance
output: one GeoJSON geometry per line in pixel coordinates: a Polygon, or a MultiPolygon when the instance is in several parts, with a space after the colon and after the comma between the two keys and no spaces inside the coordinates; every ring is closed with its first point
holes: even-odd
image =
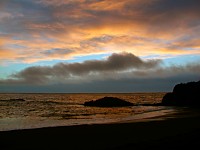
{"type": "Polygon", "coordinates": [[[31,63],[120,51],[138,56],[199,54],[199,42],[194,40],[200,31],[198,0],[0,3],[0,33],[9,35],[4,49],[16,54],[6,60],[31,63]],[[64,50],[71,52],[63,54],[64,50]]]}

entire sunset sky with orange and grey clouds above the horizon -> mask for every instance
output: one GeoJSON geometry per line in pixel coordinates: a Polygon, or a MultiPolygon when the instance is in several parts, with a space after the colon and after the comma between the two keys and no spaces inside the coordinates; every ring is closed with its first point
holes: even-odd
{"type": "Polygon", "coordinates": [[[0,92],[168,92],[198,80],[199,0],[0,1],[0,92]]]}

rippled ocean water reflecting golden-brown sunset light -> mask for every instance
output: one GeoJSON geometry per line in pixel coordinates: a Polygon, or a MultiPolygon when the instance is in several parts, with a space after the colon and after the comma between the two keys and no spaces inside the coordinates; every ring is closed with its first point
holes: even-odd
{"type": "Polygon", "coordinates": [[[137,121],[174,113],[160,103],[165,93],[0,94],[0,131],[137,121]],[[130,107],[86,107],[84,102],[105,96],[137,104],[130,107]],[[24,101],[20,100],[23,99],[24,101]]]}

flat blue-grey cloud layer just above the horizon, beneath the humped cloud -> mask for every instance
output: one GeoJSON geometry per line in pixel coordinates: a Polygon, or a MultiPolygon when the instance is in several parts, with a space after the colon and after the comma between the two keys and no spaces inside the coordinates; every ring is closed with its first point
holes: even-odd
{"type": "MultiPolygon", "coordinates": [[[[135,70],[133,72],[101,73],[101,75],[81,75],[83,80],[75,78],[70,82],[69,78],[67,81],[60,78],[61,82],[53,84],[44,84],[44,81],[40,84],[35,81],[28,84],[20,79],[9,79],[4,80],[4,83],[0,81],[0,92],[167,92],[172,91],[175,84],[198,81],[200,79],[199,67],[200,64],[189,64],[154,68],[146,72],[135,70]],[[140,74],[137,74],[139,72],[140,74]]],[[[40,74],[43,74],[42,71],[40,74]]],[[[33,80],[33,78],[30,79],[33,80]]]]}

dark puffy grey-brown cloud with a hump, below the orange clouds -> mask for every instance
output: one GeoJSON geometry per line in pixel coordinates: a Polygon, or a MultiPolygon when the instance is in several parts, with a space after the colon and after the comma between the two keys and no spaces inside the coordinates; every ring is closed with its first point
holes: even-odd
{"type": "Polygon", "coordinates": [[[33,66],[12,74],[8,81],[43,84],[46,82],[62,82],[63,80],[80,80],[126,72],[130,70],[148,70],[159,66],[160,60],[144,61],[131,53],[114,53],[105,60],[87,60],[82,63],[58,63],[52,67],[33,66]],[[80,79],[79,79],[80,78],[80,79]],[[85,79],[85,78],[84,78],[85,79]]]}

